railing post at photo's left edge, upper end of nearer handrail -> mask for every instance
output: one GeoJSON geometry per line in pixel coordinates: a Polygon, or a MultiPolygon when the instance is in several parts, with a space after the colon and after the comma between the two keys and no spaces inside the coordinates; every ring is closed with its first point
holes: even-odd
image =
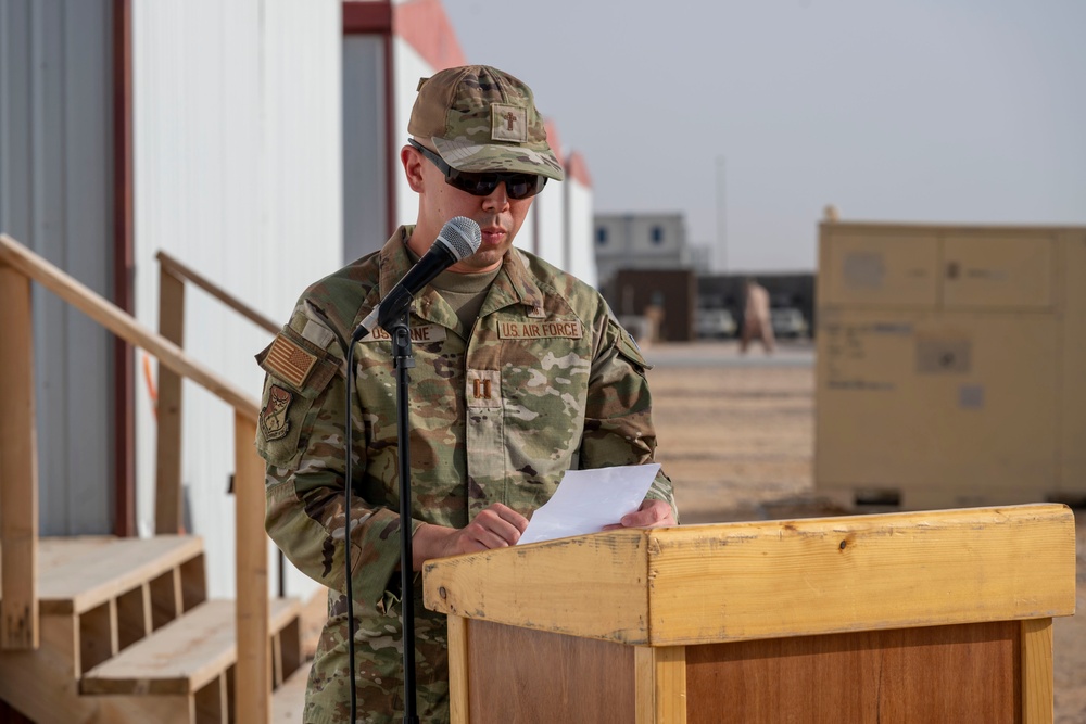
{"type": "Polygon", "coordinates": [[[30,279],[0,263],[0,649],[38,648],[38,446],[30,279]]]}

